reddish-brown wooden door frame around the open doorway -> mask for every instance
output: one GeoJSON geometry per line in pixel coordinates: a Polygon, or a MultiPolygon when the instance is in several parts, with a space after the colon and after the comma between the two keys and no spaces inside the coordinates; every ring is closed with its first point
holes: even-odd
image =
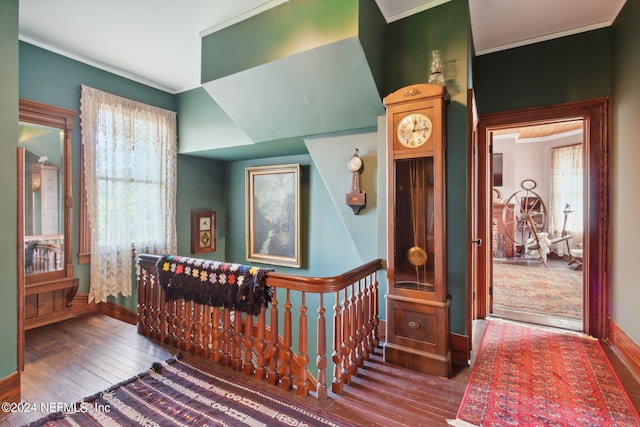
{"type": "Polygon", "coordinates": [[[487,244],[478,251],[473,271],[474,318],[489,314],[493,262],[491,259],[491,132],[520,125],[582,119],[584,121],[584,332],[607,337],[609,317],[609,150],[610,101],[600,98],[545,107],[481,115],[478,121],[477,218],[478,234],[487,244]]]}

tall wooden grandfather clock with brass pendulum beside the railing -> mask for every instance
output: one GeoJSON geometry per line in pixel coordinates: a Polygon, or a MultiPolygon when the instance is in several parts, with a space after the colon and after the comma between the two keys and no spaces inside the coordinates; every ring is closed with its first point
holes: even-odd
{"type": "Polygon", "coordinates": [[[448,377],[443,86],[416,84],[386,98],[388,170],[385,361],[448,377]]]}

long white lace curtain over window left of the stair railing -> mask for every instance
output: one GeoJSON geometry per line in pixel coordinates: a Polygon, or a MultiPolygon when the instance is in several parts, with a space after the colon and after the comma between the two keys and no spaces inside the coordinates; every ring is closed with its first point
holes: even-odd
{"type": "Polygon", "coordinates": [[[131,295],[132,247],[176,251],[176,114],[82,86],[89,302],[131,295]]]}

